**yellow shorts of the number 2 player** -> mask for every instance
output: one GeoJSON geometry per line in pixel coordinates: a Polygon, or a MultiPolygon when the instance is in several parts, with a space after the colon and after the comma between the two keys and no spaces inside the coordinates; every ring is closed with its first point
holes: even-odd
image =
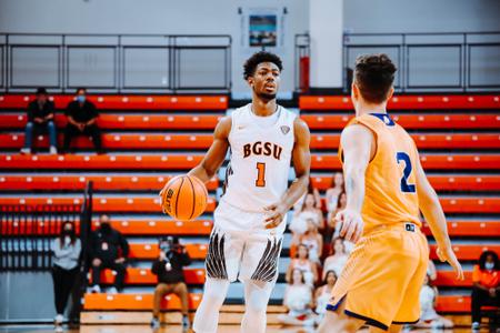
{"type": "Polygon", "coordinates": [[[428,262],[427,240],[417,225],[377,226],[356,244],[327,310],[346,302],[347,315],[382,330],[417,323],[428,262]]]}

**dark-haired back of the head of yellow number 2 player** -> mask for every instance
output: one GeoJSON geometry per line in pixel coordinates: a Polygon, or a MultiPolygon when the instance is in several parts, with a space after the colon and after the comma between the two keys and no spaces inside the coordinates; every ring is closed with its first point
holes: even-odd
{"type": "Polygon", "coordinates": [[[364,100],[382,103],[394,81],[396,68],[387,54],[364,54],[356,59],[354,82],[364,100]]]}

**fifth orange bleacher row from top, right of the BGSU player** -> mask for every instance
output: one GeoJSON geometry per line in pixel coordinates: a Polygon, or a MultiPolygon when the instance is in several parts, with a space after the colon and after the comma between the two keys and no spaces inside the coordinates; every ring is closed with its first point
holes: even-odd
{"type": "MultiPolygon", "coordinates": [[[[314,188],[327,190],[331,186],[333,176],[311,175],[314,188]]],[[[500,190],[500,175],[428,175],[436,190],[466,190],[466,191],[498,191],[500,190]]]]}

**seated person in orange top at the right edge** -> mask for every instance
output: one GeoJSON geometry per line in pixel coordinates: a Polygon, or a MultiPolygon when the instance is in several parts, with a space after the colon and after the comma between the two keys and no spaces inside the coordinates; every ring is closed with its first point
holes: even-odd
{"type": "Polygon", "coordinates": [[[481,324],[481,306],[500,306],[500,262],[497,253],[484,251],[472,272],[472,330],[481,324]]]}

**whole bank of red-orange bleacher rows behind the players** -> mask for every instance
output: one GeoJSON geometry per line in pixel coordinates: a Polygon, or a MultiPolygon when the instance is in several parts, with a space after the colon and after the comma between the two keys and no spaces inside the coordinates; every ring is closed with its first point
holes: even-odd
{"type": "MultiPolygon", "coordinates": [[[[201,264],[219,179],[209,183],[207,213],[194,222],[171,221],[161,215],[157,193],[169,176],[186,172],[201,160],[211,143],[211,131],[228,109],[226,97],[89,97],[102,112],[99,125],[106,133],[103,145],[109,154],[86,153],[89,141],[80,138],[77,145],[82,153],[20,155],[27,121],[23,109],[31,98],[0,97],[0,204],[80,203],[81,195],[76,192],[92,180],[96,215],[111,215],[113,226],[131,241],[134,261],[148,263],[158,255],[157,236],[178,234],[201,264]]],[[[71,99],[53,97],[59,110],[71,99]]],[[[340,169],[336,150],[340,130],[352,117],[351,102],[347,97],[301,97],[299,108],[312,132],[312,181],[323,192],[331,183],[332,172],[340,169]]],[[[394,97],[389,110],[396,121],[410,130],[421,150],[422,165],[440,192],[449,216],[453,250],[466,264],[464,282],[454,281],[449,269],[438,265],[437,285],[444,290],[438,310],[469,312],[471,263],[487,249],[500,253],[499,97],[394,97]]],[[[61,129],[66,119],[58,114],[56,122],[61,129]]],[[[37,145],[47,147],[47,139],[37,145]]],[[[13,223],[2,225],[2,230],[14,234],[30,232],[29,228],[20,231],[13,223]]],[[[427,226],[424,232],[430,235],[427,226]]],[[[432,250],[434,246],[431,242],[432,250]]],[[[283,252],[288,253],[288,249],[283,252]]],[[[437,260],[434,251],[431,259],[437,260]]],[[[186,278],[193,287],[190,306],[196,309],[204,272],[189,268],[186,278]]],[[[112,280],[112,272],[103,273],[106,283],[112,280]]],[[[124,293],[87,294],[84,309],[150,310],[154,282],[149,269],[130,266],[124,293]],[[134,286],[149,287],[144,291],[151,292],[138,293],[134,286]],[[127,291],[129,287],[132,292],[127,291]]],[[[164,301],[166,307],[179,309],[174,296],[166,296],[164,301]]]]}

